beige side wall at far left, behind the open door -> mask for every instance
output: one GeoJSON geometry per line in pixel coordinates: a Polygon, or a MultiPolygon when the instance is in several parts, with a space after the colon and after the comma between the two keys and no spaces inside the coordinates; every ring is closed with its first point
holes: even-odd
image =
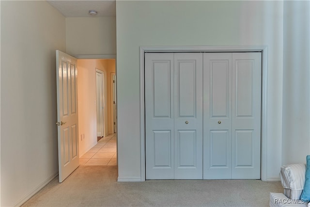
{"type": "Polygon", "coordinates": [[[0,3],[0,206],[18,206],[58,173],[55,50],[65,52],[65,18],[46,1],[0,3]]]}

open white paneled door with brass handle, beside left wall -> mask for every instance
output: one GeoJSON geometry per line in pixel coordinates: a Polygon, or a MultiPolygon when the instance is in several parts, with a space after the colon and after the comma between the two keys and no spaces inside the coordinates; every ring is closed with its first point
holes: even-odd
{"type": "Polygon", "coordinates": [[[79,166],[77,77],[77,59],[56,50],[60,183],[79,166]]]}

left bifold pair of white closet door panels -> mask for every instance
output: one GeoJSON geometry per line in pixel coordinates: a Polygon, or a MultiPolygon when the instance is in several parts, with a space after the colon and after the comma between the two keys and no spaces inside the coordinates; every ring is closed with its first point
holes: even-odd
{"type": "Polygon", "coordinates": [[[146,179],[202,179],[202,53],[145,54],[146,179]]]}

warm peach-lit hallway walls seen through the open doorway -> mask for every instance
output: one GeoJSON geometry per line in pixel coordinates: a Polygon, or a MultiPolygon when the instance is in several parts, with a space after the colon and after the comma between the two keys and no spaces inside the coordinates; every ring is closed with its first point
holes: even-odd
{"type": "Polygon", "coordinates": [[[109,138],[111,134],[114,134],[114,125],[111,125],[111,105],[113,102],[111,102],[110,95],[113,86],[109,77],[111,74],[116,74],[115,58],[85,59],[79,56],[77,58],[79,152],[80,158],[90,159],[93,154],[85,154],[90,153],[90,150],[98,144],[97,135],[109,138]],[[103,94],[101,101],[97,101],[96,79],[100,80],[99,85],[102,85],[100,87],[101,94],[103,94]],[[97,108],[102,110],[100,119],[103,127],[101,130],[100,127],[97,130],[97,108]],[[101,134],[97,134],[97,132],[101,132],[101,134]],[[85,156],[83,157],[83,155],[85,156]]]}

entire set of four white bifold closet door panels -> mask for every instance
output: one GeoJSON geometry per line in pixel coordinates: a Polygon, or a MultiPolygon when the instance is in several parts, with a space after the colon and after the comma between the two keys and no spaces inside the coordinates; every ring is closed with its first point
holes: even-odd
{"type": "Polygon", "coordinates": [[[259,179],[261,52],[145,53],[146,179],[259,179]]]}

